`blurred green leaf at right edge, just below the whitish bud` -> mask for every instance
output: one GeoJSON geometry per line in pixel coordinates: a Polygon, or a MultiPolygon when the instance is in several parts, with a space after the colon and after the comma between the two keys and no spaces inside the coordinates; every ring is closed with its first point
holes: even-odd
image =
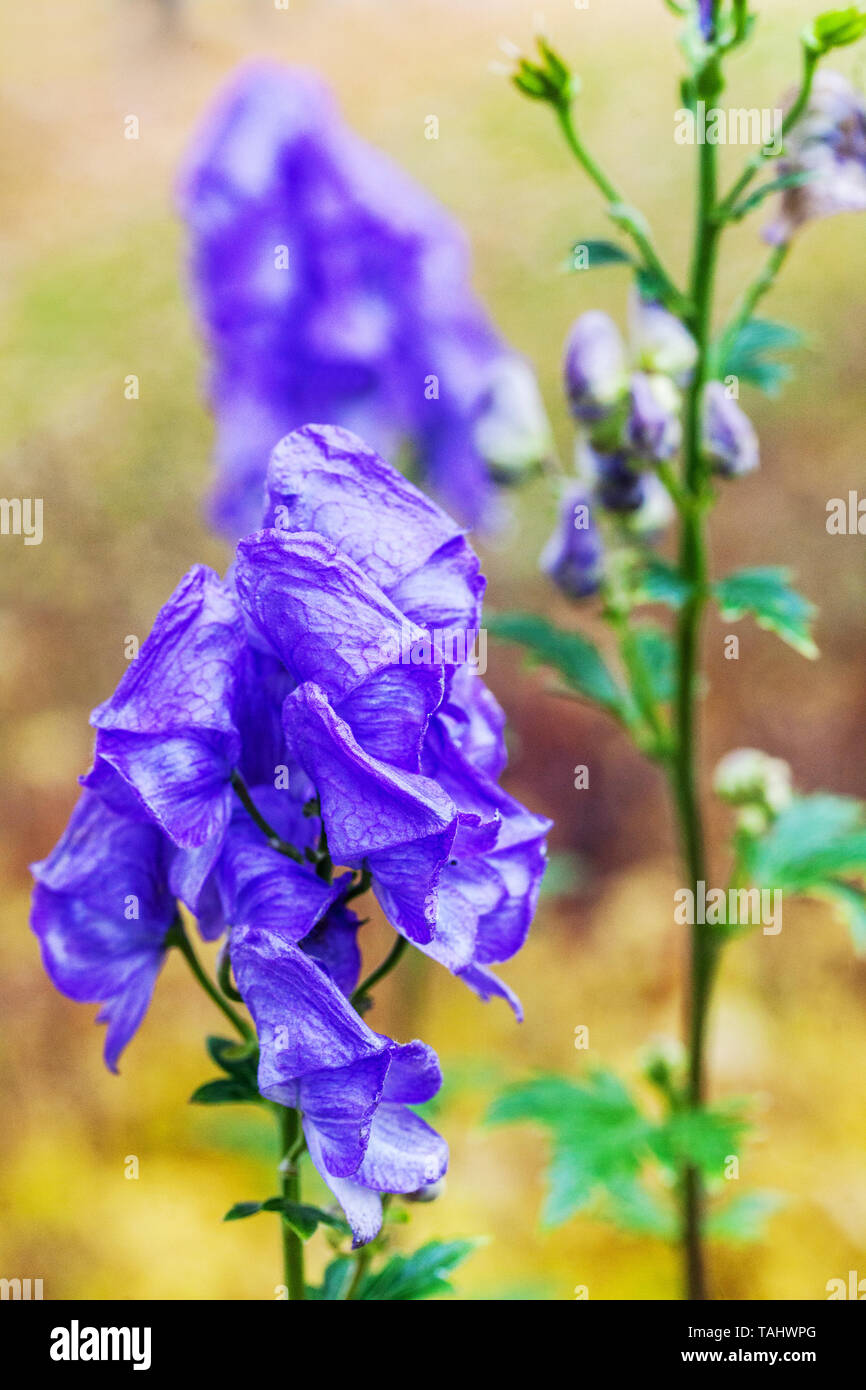
{"type": "Polygon", "coordinates": [[[746,867],[763,888],[838,892],[830,880],[866,872],[863,808],[849,796],[796,796],[766,834],[746,844],[746,867]]]}

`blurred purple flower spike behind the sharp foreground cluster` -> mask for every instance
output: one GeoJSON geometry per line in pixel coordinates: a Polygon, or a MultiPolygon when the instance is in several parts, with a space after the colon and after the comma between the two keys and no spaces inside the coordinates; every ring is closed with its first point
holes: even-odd
{"type": "Polygon", "coordinates": [[[407,443],[459,516],[495,521],[491,470],[549,449],[534,378],[473,296],[457,225],[345,125],[313,74],[260,63],[234,78],[196,138],[181,208],[225,535],[259,525],[270,453],[309,420],[389,457],[407,443]]]}

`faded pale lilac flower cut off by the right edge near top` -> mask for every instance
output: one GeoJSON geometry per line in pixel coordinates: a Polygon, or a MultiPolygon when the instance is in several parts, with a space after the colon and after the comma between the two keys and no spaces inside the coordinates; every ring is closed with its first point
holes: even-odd
{"type": "Polygon", "coordinates": [[[866,99],[841,72],[820,68],[805,114],[785,139],[780,174],[805,182],[784,189],[765,240],[784,245],[817,217],[866,211],[866,99]]]}

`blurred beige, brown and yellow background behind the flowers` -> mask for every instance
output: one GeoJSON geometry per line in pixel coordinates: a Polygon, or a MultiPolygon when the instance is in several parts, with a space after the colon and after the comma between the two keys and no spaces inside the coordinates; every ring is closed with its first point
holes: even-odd
{"type": "MultiPolygon", "coordinates": [[[[307,64],[346,117],[442,199],[468,231],[475,284],[510,342],[537,364],[563,453],[570,430],[559,359],[574,316],[623,318],[617,268],[566,277],[574,239],[607,232],[549,113],[491,71],[498,40],[527,46],[535,3],[517,0],[32,0],[4,7],[0,177],[4,217],[0,493],[44,499],[44,541],[0,539],[0,1275],[43,1277],[44,1297],[271,1298],[275,1222],[222,1226],[236,1200],[272,1190],[274,1137],[249,1108],[186,1105],[213,1073],[202,1048],[213,1011],[171,959],[121,1076],[104,1072],[93,1008],[43,976],[28,931],[26,865],[60,834],[90,756],[88,713],[125,669],[195,562],[224,567],[202,521],[211,423],[203,354],[183,286],[172,208],[179,160],[232,68],[268,54],[307,64]],[[136,114],[140,138],[124,139],[136,114]],[[439,139],[424,121],[439,117],[439,139]],[[124,378],[140,378],[140,399],[124,378]],[[125,1177],[139,1159],[138,1180],[125,1177]]],[[[759,35],[730,64],[731,106],[777,106],[794,79],[796,31],[819,0],[762,0],[759,35]]],[[[648,213],[684,271],[694,147],[673,140],[678,53],[662,0],[548,0],[548,29],[584,79],[591,147],[648,213]]],[[[866,61],[860,49],[859,76],[866,61]]],[[[837,67],[856,74],[856,51],[837,67]]],[[[745,152],[723,152],[740,167],[745,152]]],[[[723,299],[763,254],[760,214],[730,235],[723,299]]],[[[798,783],[863,795],[866,626],[862,537],[830,537],[826,503],[863,485],[866,220],[798,239],[766,311],[803,328],[799,375],[776,400],[744,402],[762,436],[759,475],[726,488],[713,563],[794,563],[820,603],[820,663],[738,624],[738,662],[710,624],[705,767],[735,745],[788,758],[798,783]]],[[[542,485],[518,524],[487,548],[489,598],[556,610],[535,571],[550,528],[542,485]]],[[[592,627],[592,619],[578,614],[592,627]]],[[[512,649],[488,673],[510,717],[507,784],[556,820],[549,891],[503,974],[523,997],[518,1027],[445,972],[403,966],[374,1026],[424,1037],[448,1076],[436,1122],[452,1145],[445,1197],[416,1208],[411,1240],[482,1234],[457,1279],[466,1298],[678,1297],[663,1244],[578,1216],[539,1229],[545,1144],[489,1130],[487,1104],[532,1069],[627,1074],[652,1034],[678,1030],[683,929],[659,778],[599,716],[546,692],[512,649]],[[591,791],[573,790],[587,763],[591,791]],[[574,1049],[577,1024],[591,1051],[574,1049]]],[[[710,815],[717,873],[724,815],[710,815]]],[[[716,881],[720,881],[719,878],[716,881]]],[[[386,933],[366,929],[368,959],[386,933]]],[[[831,1277],[866,1275],[866,965],[817,903],[785,903],[784,930],[727,960],[712,1038],[713,1093],[758,1093],[744,1187],[787,1205],[745,1250],[716,1247],[721,1298],[822,1298],[831,1277]]],[[[405,1238],[405,1237],[400,1237],[405,1238]]],[[[320,1245],[317,1240],[313,1245],[320,1245]]],[[[311,1261],[313,1270],[321,1259],[311,1261]]]]}

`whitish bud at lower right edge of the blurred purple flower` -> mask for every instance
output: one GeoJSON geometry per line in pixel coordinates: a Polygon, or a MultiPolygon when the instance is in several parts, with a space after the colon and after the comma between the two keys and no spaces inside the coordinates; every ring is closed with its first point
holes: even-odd
{"type": "Polygon", "coordinates": [[[550,457],[550,425],[535,374],[523,357],[499,357],[492,364],[474,442],[500,482],[518,482],[550,457]]]}

